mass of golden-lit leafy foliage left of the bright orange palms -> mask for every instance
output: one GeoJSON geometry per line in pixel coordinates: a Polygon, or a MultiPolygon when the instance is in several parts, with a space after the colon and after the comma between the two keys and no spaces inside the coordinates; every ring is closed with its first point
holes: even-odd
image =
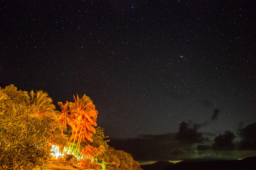
{"type": "MultiPolygon", "coordinates": [[[[43,100],[40,100],[44,102],[43,100]]],[[[50,156],[50,143],[63,141],[56,116],[35,116],[28,92],[13,85],[0,88],[0,166],[32,169],[50,156]],[[59,138],[58,138],[59,137],[59,138]]],[[[49,104],[49,103],[48,103],[49,104]]],[[[45,108],[45,107],[43,107],[45,108]]]]}

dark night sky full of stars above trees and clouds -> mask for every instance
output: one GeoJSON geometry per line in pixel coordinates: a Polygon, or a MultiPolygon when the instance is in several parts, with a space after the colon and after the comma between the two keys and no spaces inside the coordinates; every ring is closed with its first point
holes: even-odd
{"type": "Polygon", "coordinates": [[[90,96],[106,136],[256,120],[255,1],[1,1],[0,82],[90,96]],[[218,109],[219,113],[215,113],[218,109]]]}

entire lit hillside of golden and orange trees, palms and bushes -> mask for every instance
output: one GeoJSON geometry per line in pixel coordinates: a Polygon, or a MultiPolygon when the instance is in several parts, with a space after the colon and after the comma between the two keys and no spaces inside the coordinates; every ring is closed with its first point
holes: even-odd
{"type": "Polygon", "coordinates": [[[108,146],[104,129],[97,127],[98,111],[90,97],[58,102],[41,90],[0,88],[0,169],[33,169],[51,159],[52,145],[63,162],[97,169],[136,169],[129,153],[108,146]],[[97,127],[97,128],[96,128],[97,127]]]}

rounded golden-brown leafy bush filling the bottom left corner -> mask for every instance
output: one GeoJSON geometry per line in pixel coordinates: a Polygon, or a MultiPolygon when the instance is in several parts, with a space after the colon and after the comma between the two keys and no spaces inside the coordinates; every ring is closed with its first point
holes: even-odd
{"type": "Polygon", "coordinates": [[[49,156],[51,149],[47,143],[38,138],[35,127],[31,127],[28,132],[28,127],[22,122],[8,123],[3,117],[0,123],[0,164],[2,167],[23,166],[23,168],[32,169],[35,165],[43,163],[40,159],[49,156]]]}

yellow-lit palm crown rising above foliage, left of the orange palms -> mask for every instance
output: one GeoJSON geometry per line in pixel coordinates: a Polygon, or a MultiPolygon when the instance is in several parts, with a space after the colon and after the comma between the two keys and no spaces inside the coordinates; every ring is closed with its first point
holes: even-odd
{"type": "Polygon", "coordinates": [[[55,106],[52,104],[53,100],[48,96],[47,92],[42,90],[34,92],[31,90],[29,97],[31,98],[34,115],[43,116],[45,113],[52,114],[55,112],[55,106]]]}

